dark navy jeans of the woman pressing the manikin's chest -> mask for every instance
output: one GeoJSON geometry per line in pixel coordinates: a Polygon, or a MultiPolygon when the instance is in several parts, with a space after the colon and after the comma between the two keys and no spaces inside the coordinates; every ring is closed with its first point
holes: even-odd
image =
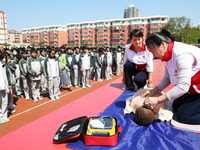
{"type": "Polygon", "coordinates": [[[200,124],[200,94],[184,94],[173,102],[174,117],[187,124],[200,124]]]}

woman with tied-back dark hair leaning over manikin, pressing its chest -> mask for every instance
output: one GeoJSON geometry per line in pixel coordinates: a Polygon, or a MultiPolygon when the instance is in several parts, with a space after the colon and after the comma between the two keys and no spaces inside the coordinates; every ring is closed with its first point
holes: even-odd
{"type": "Polygon", "coordinates": [[[147,97],[146,107],[173,101],[174,118],[186,124],[200,124],[200,48],[176,42],[167,30],[152,33],[146,39],[148,50],[164,61],[162,81],[143,96],[153,96],[170,83],[174,87],[159,97],[147,97]]]}

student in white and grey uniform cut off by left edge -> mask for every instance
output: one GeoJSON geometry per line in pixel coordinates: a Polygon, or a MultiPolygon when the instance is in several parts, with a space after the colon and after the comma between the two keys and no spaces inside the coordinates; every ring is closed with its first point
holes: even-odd
{"type": "Polygon", "coordinates": [[[0,50],[0,124],[10,121],[8,119],[8,92],[9,89],[11,89],[11,87],[8,86],[6,66],[2,62],[2,53],[3,52],[0,50]]]}

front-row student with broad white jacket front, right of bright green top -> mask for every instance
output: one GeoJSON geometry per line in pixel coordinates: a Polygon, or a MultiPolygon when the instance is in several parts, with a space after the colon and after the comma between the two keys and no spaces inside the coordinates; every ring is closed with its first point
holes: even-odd
{"type": "Polygon", "coordinates": [[[80,71],[82,72],[82,88],[84,89],[86,86],[91,87],[89,83],[90,76],[90,55],[88,53],[88,48],[83,47],[83,53],[80,55],[79,66],[80,71]]]}

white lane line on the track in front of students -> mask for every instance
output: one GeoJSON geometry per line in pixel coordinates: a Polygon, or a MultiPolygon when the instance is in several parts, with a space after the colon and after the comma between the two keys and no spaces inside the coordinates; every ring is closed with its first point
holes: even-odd
{"type": "MultiPolygon", "coordinates": [[[[97,83],[97,81],[91,83],[90,85],[93,85],[93,84],[95,84],[95,83],[97,83]]],[[[60,98],[61,98],[61,97],[64,97],[64,96],[66,96],[66,95],[72,94],[72,93],[77,92],[77,91],[79,91],[79,90],[82,90],[82,88],[79,88],[79,89],[77,89],[77,90],[73,90],[73,91],[71,91],[70,93],[63,94],[63,95],[61,95],[61,96],[59,96],[59,97],[60,97],[60,98]]],[[[57,101],[57,100],[56,100],[56,101],[57,101]]],[[[18,113],[18,114],[16,114],[16,115],[13,115],[13,116],[11,116],[11,117],[9,117],[9,118],[11,119],[11,118],[17,117],[17,116],[22,115],[22,114],[24,114],[24,113],[26,113],[26,112],[29,112],[29,111],[31,111],[31,110],[33,110],[33,109],[36,109],[36,108],[41,107],[41,106],[43,106],[43,105],[45,105],[45,104],[48,104],[48,103],[50,103],[50,102],[55,102],[55,101],[49,100],[49,101],[44,102],[44,103],[42,103],[42,104],[40,104],[40,105],[37,105],[37,106],[32,107],[32,108],[30,108],[30,109],[27,109],[27,110],[25,110],[25,111],[23,111],[23,112],[20,112],[20,113],[18,113]]]]}

